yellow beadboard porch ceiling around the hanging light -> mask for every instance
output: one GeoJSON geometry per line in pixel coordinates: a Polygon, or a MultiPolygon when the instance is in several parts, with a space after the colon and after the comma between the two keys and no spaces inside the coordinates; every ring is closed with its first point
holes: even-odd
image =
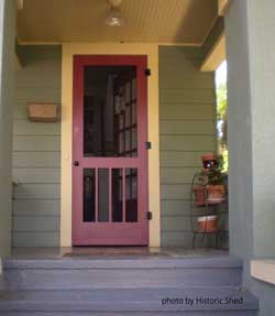
{"type": "Polygon", "coordinates": [[[105,25],[106,0],[24,0],[21,42],[158,42],[202,44],[218,14],[217,0],[123,0],[127,24],[105,25]]]}

